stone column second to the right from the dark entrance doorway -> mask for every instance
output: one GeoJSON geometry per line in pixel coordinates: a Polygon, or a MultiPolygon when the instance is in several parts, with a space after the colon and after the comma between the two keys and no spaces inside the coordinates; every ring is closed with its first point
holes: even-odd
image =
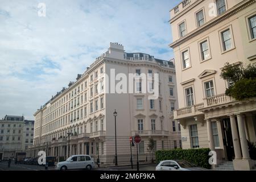
{"type": "Polygon", "coordinates": [[[237,123],[238,123],[238,130],[239,130],[239,135],[240,135],[243,159],[250,159],[246,135],[245,135],[245,125],[243,122],[245,122],[245,116],[242,114],[238,114],[237,115],[237,123]]]}

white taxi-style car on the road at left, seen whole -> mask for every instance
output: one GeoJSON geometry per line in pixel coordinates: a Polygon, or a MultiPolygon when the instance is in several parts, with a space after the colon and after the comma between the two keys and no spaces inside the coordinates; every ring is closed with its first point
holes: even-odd
{"type": "Polygon", "coordinates": [[[89,155],[72,155],[67,160],[56,164],[56,169],[65,171],[68,169],[92,169],[95,167],[93,159],[89,155]]]}

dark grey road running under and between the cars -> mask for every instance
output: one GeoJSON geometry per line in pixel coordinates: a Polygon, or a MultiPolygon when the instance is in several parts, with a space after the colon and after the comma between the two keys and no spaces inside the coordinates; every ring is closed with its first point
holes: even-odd
{"type": "MultiPolygon", "coordinates": [[[[142,164],[139,166],[139,171],[154,171],[156,164],[142,164]]],[[[7,162],[0,162],[0,171],[44,171],[44,166],[27,165],[27,164],[14,164],[11,163],[8,168],[7,162]]],[[[54,166],[48,167],[48,170],[55,170],[54,166]]],[[[137,171],[137,166],[134,165],[133,169],[131,166],[112,166],[112,167],[100,167],[95,168],[96,171],[137,171]]]]}

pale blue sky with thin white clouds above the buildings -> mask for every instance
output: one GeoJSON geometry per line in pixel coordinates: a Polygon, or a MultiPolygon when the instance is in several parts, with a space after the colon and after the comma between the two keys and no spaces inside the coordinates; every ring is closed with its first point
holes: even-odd
{"type": "Polygon", "coordinates": [[[118,42],[170,60],[180,0],[0,0],[0,118],[33,114],[118,42]],[[44,10],[39,3],[45,5],[44,10]]]}

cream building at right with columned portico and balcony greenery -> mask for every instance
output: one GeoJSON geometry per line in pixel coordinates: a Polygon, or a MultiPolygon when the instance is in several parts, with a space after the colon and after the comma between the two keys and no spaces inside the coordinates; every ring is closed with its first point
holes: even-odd
{"type": "Polygon", "coordinates": [[[170,11],[183,148],[210,148],[217,164],[254,167],[247,140],[256,142],[256,100],[225,96],[225,63],[256,62],[255,0],[182,1],[170,11]]]}

